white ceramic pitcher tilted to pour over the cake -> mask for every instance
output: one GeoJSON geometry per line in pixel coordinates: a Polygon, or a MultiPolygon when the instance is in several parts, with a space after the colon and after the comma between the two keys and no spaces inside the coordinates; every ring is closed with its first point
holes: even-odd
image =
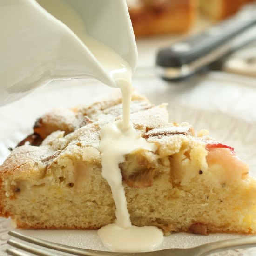
{"type": "Polygon", "coordinates": [[[58,79],[96,78],[115,87],[80,39],[85,27],[135,70],[137,49],[125,0],[1,0],[0,105],[58,79]],[[73,9],[59,9],[60,2],[73,9]],[[47,8],[57,9],[59,17],[47,8]],[[72,31],[60,21],[67,16],[71,23],[80,16],[84,26],[72,31]]]}

